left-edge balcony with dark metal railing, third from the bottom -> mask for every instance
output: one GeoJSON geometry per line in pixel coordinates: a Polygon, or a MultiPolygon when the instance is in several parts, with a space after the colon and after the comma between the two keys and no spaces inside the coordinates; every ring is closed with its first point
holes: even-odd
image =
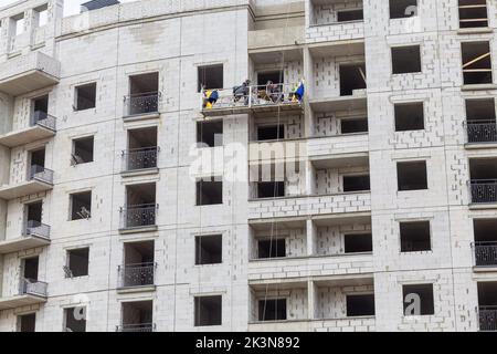
{"type": "Polygon", "coordinates": [[[10,200],[51,190],[52,188],[53,170],[39,165],[33,165],[30,168],[27,181],[0,187],[0,198],[10,200]]]}

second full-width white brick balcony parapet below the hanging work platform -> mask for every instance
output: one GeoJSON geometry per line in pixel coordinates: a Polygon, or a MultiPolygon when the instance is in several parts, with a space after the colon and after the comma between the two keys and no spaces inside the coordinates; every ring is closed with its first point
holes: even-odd
{"type": "Polygon", "coordinates": [[[370,211],[370,192],[296,196],[276,199],[258,199],[248,202],[248,219],[295,218],[316,215],[343,215],[370,211]]]}

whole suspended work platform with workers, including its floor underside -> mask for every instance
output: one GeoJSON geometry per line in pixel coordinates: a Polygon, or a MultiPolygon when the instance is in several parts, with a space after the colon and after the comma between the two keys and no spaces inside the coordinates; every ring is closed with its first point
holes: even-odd
{"type": "Polygon", "coordinates": [[[245,86],[234,92],[234,88],[213,90],[218,100],[210,103],[207,91],[202,91],[201,112],[204,116],[223,116],[250,113],[302,112],[302,101],[297,98],[296,85],[276,84],[268,92],[267,86],[245,86]]]}

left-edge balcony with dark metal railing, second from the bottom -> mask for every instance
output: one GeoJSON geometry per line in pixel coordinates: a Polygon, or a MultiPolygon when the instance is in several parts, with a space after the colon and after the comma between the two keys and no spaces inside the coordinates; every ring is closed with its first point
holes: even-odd
{"type": "Polygon", "coordinates": [[[13,253],[50,244],[50,226],[30,220],[24,235],[12,240],[0,241],[0,254],[13,253]]]}

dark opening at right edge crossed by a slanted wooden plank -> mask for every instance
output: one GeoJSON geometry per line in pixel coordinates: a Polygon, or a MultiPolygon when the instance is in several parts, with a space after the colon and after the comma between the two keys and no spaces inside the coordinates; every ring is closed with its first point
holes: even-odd
{"type": "Polygon", "coordinates": [[[489,42],[461,44],[463,51],[463,75],[465,85],[491,84],[491,54],[489,42]]]}

